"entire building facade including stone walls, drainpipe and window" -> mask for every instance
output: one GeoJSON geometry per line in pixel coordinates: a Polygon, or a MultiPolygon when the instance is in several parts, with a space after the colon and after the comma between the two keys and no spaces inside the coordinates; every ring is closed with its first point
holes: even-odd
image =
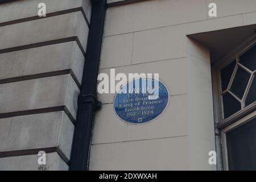
{"type": "Polygon", "coordinates": [[[255,0],[0,2],[1,170],[256,169],[255,0]],[[123,122],[113,69],[159,73],[164,112],[123,122]]]}

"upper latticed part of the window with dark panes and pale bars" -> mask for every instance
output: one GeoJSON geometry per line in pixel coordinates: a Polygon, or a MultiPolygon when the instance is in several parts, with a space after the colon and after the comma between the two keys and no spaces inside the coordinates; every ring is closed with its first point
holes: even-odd
{"type": "Polygon", "coordinates": [[[256,102],[255,72],[256,44],[221,69],[224,119],[256,102]]]}

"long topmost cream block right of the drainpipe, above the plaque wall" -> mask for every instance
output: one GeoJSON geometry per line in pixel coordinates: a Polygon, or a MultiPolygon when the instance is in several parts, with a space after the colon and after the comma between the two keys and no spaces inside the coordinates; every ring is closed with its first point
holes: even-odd
{"type": "Polygon", "coordinates": [[[142,1],[110,7],[106,15],[105,36],[125,34],[207,19],[205,0],[142,1]]]}

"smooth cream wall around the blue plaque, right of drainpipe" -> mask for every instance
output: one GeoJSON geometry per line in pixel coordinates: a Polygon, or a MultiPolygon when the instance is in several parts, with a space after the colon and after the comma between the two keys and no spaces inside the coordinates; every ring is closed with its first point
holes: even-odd
{"type": "MultiPolygon", "coordinates": [[[[109,1],[116,2],[116,1],[109,1]]],[[[90,170],[216,170],[210,57],[188,34],[256,23],[256,1],[220,0],[217,18],[208,0],[151,0],[109,7],[101,72],[159,73],[170,91],[166,111],[133,126],[117,118],[114,94],[99,94],[90,170]]]]}

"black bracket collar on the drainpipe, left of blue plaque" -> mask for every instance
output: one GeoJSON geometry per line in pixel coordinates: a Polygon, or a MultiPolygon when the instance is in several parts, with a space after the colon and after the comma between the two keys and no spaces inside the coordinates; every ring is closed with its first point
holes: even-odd
{"type": "Polygon", "coordinates": [[[98,98],[94,94],[82,94],[79,96],[78,105],[87,105],[87,104],[92,104],[94,107],[94,111],[100,110],[102,103],[101,101],[98,101],[98,98]]]}

